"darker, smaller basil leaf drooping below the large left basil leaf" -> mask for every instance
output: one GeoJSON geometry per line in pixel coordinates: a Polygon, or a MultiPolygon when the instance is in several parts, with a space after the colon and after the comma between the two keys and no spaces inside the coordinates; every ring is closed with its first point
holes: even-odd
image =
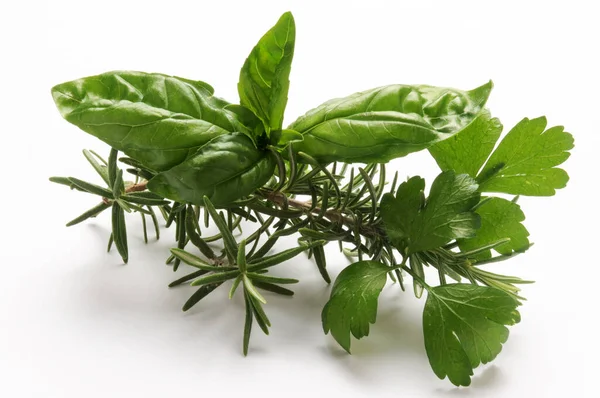
{"type": "Polygon", "coordinates": [[[249,195],[273,175],[271,152],[256,149],[241,133],[222,135],[198,149],[183,163],[156,175],[148,189],[177,202],[226,205],[249,195]]]}

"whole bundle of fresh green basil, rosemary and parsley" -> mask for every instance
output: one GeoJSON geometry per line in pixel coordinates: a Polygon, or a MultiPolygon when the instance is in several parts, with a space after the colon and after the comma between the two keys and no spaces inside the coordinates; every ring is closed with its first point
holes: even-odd
{"type": "Polygon", "coordinates": [[[108,249],[127,262],[125,213],[141,216],[146,242],[148,219],[159,237],[160,213],[176,230],[167,263],[197,269],[169,285],[196,287],[183,310],[231,281],[230,297],[239,290],[245,299],[244,354],[254,322],[267,334],[271,326],[261,291],[291,296],[285,286],[298,282],[269,269],[308,252],[330,283],[324,247],[337,242],[355,262],[333,284],[325,333],[350,352],[351,335],[369,334],[388,280],[404,290],[410,277],[417,297],[427,291],[423,332],[433,371],[469,385],[473,369],[501,351],[506,326],[519,322],[518,285],[528,283],[482,266],[530,247],[517,198],[565,187],[568,176],[556,166],[569,157],[572,136],[540,117],[500,140],[503,126],[485,107],[491,82],[470,91],[379,87],[328,101],[283,128],[294,42],[286,13],[244,63],[239,105],[207,83],[155,73],[108,72],[55,86],[62,116],[112,148],[107,160],[83,152],[105,187],[50,179],[100,197],[67,225],[110,209],[108,249]],[[423,149],[442,170],[427,196],[423,178],[386,174],[388,161],[423,149]],[[257,228],[236,239],[242,221],[257,228]],[[210,223],[218,234],[203,234],[210,223]],[[271,253],[289,235],[297,247],[271,253]]]}

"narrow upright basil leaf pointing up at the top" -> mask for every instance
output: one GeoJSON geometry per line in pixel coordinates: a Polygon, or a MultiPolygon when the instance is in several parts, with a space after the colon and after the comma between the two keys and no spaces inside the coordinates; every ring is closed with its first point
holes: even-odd
{"type": "Polygon", "coordinates": [[[240,103],[269,130],[281,129],[294,57],[296,26],[286,12],[252,49],[240,71],[240,103]]]}

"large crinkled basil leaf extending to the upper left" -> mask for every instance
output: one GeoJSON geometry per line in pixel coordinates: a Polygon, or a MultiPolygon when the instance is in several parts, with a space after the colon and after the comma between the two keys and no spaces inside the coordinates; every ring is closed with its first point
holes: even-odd
{"type": "Polygon", "coordinates": [[[158,171],[221,134],[246,131],[213,92],[200,81],[119,71],[52,88],[67,121],[158,171]]]}

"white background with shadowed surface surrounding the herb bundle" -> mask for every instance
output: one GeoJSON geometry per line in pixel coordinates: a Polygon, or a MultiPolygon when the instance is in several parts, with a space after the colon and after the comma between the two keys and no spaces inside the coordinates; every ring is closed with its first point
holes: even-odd
{"type": "MultiPolygon", "coordinates": [[[[20,1],[0,5],[2,397],[564,397],[597,396],[598,11],[594,1],[20,1]],[[239,67],[279,15],[293,11],[295,60],[286,121],[326,99],[378,85],[470,89],[493,79],[504,125],[547,115],[574,134],[567,189],[523,198],[536,245],[490,268],[534,279],[523,321],[470,388],[431,372],[423,300],[389,285],[371,335],[352,356],[324,336],[329,289],[304,258],[277,268],[302,282],[267,296],[273,328],[241,355],[243,305],[221,289],[188,313],[192,290],[167,289],[173,231],[141,242],[130,218],[130,263],[105,253],[109,219],[66,221],[96,199],[50,184],[96,178],[82,148],[107,148],[63,121],[57,83],[114,69],[205,80],[237,100],[239,67]]],[[[394,162],[431,178],[426,153],[394,162]]],[[[97,181],[97,180],[96,180],[97,181]]],[[[330,261],[333,276],[345,265],[330,261]]],[[[181,275],[178,272],[177,275],[181,275]]]]}

